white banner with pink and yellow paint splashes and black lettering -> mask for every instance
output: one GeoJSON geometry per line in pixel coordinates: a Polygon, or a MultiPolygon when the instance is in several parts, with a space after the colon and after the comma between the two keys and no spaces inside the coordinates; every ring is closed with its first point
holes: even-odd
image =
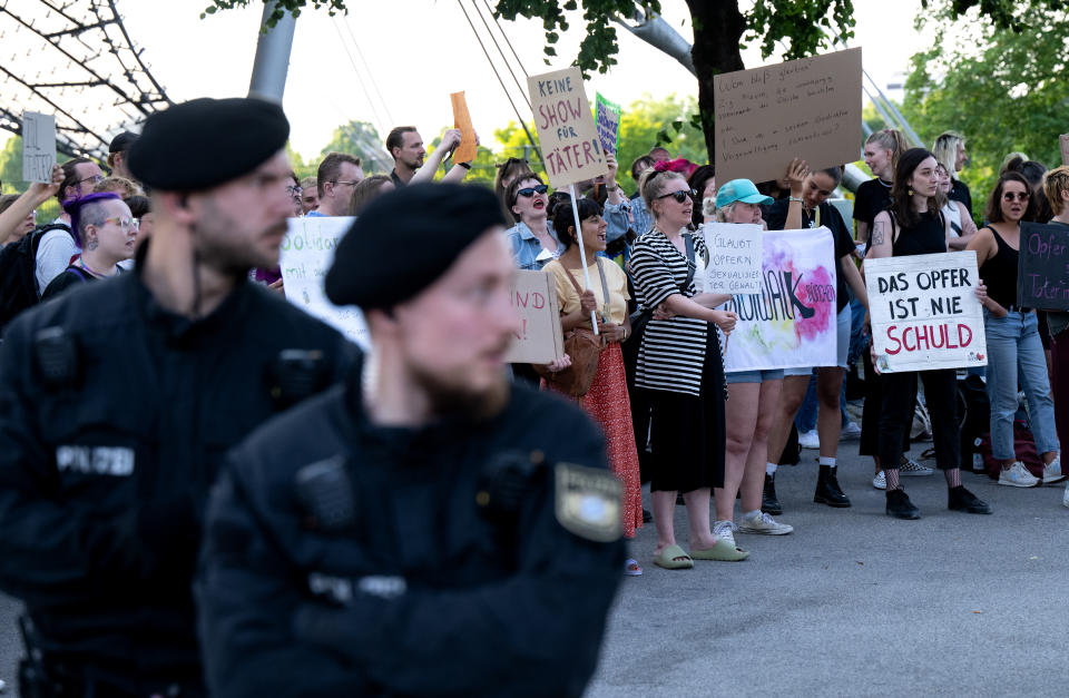
{"type": "MultiPolygon", "coordinates": [[[[738,226],[741,227],[741,226],[738,226]]],[[[834,366],[835,243],[825,227],[762,236],[761,293],[736,294],[727,371],[834,366]]],[[[710,264],[709,266],[713,266],[710,264]]]]}

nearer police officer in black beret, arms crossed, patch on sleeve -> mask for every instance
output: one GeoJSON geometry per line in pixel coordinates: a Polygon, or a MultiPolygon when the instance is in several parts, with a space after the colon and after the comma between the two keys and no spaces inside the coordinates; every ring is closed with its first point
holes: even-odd
{"type": "Polygon", "coordinates": [[[502,373],[519,330],[493,195],[412,185],[337,247],[361,370],[271,421],[208,508],[213,695],[580,696],[620,580],[620,485],[570,402],[502,373]]]}

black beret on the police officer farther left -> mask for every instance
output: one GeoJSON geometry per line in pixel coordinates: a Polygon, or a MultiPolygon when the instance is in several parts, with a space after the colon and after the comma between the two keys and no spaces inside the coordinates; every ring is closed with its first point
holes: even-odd
{"type": "Polygon", "coordinates": [[[165,191],[210,189],[246,175],[286,145],[290,121],[262,99],[194,99],[148,117],[130,171],[165,191]]]}

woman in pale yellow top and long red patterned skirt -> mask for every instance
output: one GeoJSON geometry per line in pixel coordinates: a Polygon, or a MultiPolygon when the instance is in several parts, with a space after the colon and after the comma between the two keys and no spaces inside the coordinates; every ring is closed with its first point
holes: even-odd
{"type": "MultiPolygon", "coordinates": [[[[601,216],[601,206],[589,198],[577,203],[580,233],[576,234],[571,201],[561,203],[553,212],[553,229],[558,230],[565,252],[546,265],[553,277],[560,304],[560,323],[565,332],[590,327],[590,313],[597,313],[598,333],[606,345],[598,356],[598,371],[586,395],[579,397],[582,407],[601,426],[609,456],[609,468],[624,484],[624,537],[635,538],[635,529],[643,525],[643,484],[638,472],[638,451],[631,429],[631,409],[624,375],[624,354],[620,343],[631,333],[627,315],[627,276],[619,265],[602,259],[608,224],[601,216]],[[590,288],[582,288],[582,245],[587,257],[590,288]]],[[[626,574],[641,574],[636,560],[627,560],[626,574]]]]}

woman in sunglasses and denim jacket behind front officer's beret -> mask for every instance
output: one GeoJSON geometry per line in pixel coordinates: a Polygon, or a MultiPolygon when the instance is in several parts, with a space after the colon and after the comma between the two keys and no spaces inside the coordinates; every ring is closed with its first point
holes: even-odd
{"type": "Polygon", "coordinates": [[[504,200],[516,225],[504,232],[512,248],[516,266],[539,271],[563,252],[549,223],[549,187],[530,173],[514,179],[504,190],[504,200]]]}

